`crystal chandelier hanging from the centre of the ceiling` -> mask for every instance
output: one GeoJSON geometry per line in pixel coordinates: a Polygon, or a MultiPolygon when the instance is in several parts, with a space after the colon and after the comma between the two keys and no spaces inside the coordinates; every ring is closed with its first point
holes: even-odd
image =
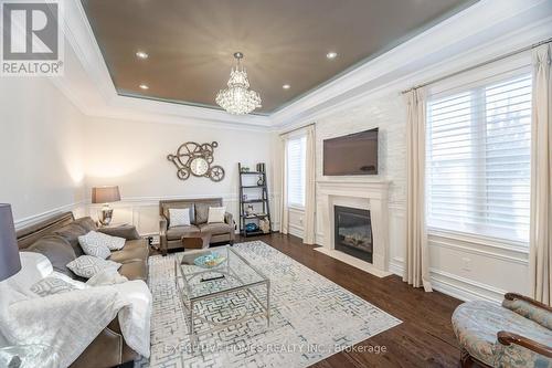
{"type": "Polygon", "coordinates": [[[236,52],[234,57],[236,59],[236,66],[230,72],[229,87],[219,91],[215,101],[219,106],[230,114],[246,115],[261,107],[261,97],[258,93],[250,90],[247,72],[240,63],[243,53],[236,52]]]}

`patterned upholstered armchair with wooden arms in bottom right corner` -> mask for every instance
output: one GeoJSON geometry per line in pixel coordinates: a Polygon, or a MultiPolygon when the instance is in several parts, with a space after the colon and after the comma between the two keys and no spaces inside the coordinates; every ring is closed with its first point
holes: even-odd
{"type": "Polygon", "coordinates": [[[552,368],[552,307],[508,293],[502,305],[468,302],[453,314],[461,367],[552,368]]]}

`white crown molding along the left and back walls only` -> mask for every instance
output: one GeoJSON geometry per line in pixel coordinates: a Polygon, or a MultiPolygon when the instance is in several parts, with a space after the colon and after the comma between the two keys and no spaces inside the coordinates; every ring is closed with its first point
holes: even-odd
{"type": "Polygon", "coordinates": [[[63,23],[71,50],[65,75],[51,80],[85,115],[215,127],[270,126],[269,118],[263,115],[236,116],[214,108],[119,95],[81,1],[66,2],[63,23]]]}

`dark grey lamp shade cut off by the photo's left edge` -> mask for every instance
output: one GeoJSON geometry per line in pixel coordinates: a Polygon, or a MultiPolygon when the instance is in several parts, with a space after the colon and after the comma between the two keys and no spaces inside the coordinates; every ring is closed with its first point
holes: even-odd
{"type": "Polygon", "coordinates": [[[0,281],[3,281],[21,270],[18,239],[11,206],[0,203],[0,281]]]}

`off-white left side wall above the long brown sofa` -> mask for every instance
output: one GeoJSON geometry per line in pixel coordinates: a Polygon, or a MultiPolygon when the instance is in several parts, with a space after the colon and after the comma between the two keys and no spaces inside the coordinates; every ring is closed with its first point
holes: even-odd
{"type": "Polygon", "coordinates": [[[46,78],[1,78],[0,202],[17,227],[83,201],[84,120],[46,78]]]}

